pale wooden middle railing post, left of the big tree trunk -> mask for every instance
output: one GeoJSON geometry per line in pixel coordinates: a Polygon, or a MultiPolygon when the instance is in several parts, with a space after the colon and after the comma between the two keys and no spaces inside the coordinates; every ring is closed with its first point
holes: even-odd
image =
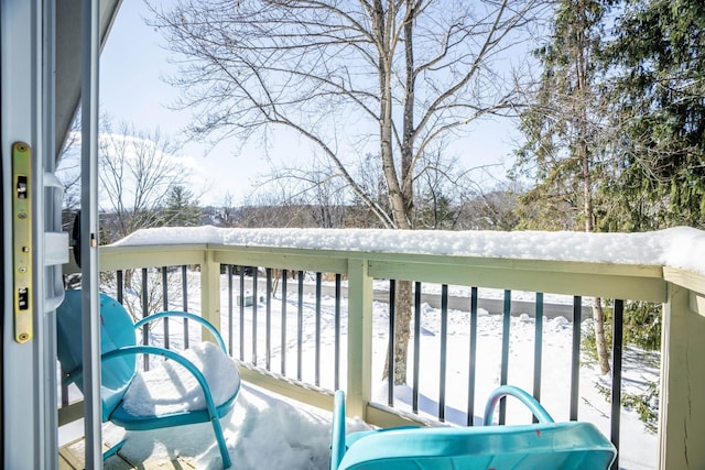
{"type": "Polygon", "coordinates": [[[372,278],[367,270],[367,260],[349,260],[347,413],[361,419],[372,394],[372,278]]]}

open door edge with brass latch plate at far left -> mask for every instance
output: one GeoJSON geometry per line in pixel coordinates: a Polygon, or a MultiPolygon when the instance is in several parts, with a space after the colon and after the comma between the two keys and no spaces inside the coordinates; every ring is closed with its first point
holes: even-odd
{"type": "Polygon", "coordinates": [[[4,468],[57,468],[56,342],[62,185],[54,176],[53,4],[0,3],[2,442],[4,468]]]}

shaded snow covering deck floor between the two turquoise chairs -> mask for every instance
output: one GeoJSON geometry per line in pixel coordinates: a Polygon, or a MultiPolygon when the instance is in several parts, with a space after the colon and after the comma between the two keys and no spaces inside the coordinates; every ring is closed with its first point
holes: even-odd
{"type": "MultiPolygon", "coordinates": [[[[332,411],[243,383],[232,412],[220,423],[234,469],[307,470],[328,468],[332,417],[332,411]]],[[[368,428],[359,419],[348,420],[348,430],[368,428]]],[[[198,469],[223,468],[210,424],[127,433],[104,425],[104,440],[112,444],[123,437],[120,455],[130,461],[184,457],[198,469]]],[[[105,468],[110,470],[110,460],[105,468]]]]}

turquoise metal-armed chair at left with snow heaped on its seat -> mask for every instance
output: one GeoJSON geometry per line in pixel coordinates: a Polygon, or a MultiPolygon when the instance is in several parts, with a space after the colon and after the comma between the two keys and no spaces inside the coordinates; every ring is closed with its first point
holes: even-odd
{"type": "MultiPolygon", "coordinates": [[[[80,311],[82,292],[67,291],[64,303],[56,311],[57,353],[62,370],[65,373],[64,383],[76,383],[79,390],[83,389],[80,311]]],[[[235,361],[227,357],[225,342],[213,325],[198,316],[185,311],[162,311],[150,315],[137,324],[133,324],[130,315],[122,305],[113,298],[100,294],[100,400],[104,423],[110,420],[128,430],[145,430],[195,423],[212,423],[223,457],[223,464],[225,468],[230,467],[230,456],[228,455],[219,418],[228,414],[234,406],[235,398],[240,391],[240,375],[235,361]],[[213,334],[218,342],[218,347],[212,343],[204,343],[194,348],[194,351],[191,352],[195,354],[192,356],[193,358],[198,359],[196,362],[207,364],[208,367],[199,370],[194,364],[194,361],[188,360],[178,351],[154,346],[137,345],[135,334],[143,325],[165,317],[187,318],[191,321],[203,325],[213,334]],[[159,394],[159,391],[154,390],[155,385],[150,383],[148,375],[138,372],[137,354],[161,356],[174,361],[174,363],[183,365],[183,368],[174,368],[174,370],[178,371],[178,374],[171,376],[174,381],[173,389],[171,390],[182,390],[184,387],[184,380],[189,380],[191,375],[196,380],[203,395],[199,395],[197,392],[195,393],[203,400],[191,400],[183,404],[175,403],[175,408],[166,413],[159,413],[156,409],[150,409],[149,407],[144,409],[134,406],[135,402],[139,405],[139,397],[137,401],[132,400],[132,402],[126,406],[126,395],[129,393],[131,393],[132,397],[135,393],[141,392],[144,392],[147,395],[150,393],[159,394]],[[221,370],[212,370],[210,363],[206,362],[208,359],[212,360],[214,356],[217,356],[217,361],[212,362],[221,365],[221,370]],[[218,385],[217,398],[214,398],[214,390],[212,390],[214,383],[218,385]],[[150,386],[152,387],[151,391],[150,386]],[[131,387],[133,389],[131,390],[131,387]]],[[[164,384],[161,383],[160,386],[164,386],[164,384]]],[[[193,397],[194,391],[192,390],[191,392],[191,396],[193,397]]],[[[150,403],[149,400],[145,400],[145,403],[150,403]]],[[[162,404],[160,404],[160,406],[162,406],[162,404]]],[[[108,458],[117,452],[123,444],[124,441],[113,446],[104,455],[104,458],[108,458]]]]}

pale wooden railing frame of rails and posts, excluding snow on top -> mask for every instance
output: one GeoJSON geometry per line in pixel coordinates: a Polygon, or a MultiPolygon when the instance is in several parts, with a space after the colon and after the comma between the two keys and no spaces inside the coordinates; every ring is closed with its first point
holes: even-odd
{"type": "MultiPolygon", "coordinates": [[[[658,468],[705,468],[705,276],[673,266],[499,259],[453,254],[319,250],[220,243],[119,245],[100,249],[105,272],[173,265],[199,266],[200,313],[220,325],[221,265],[341,274],[347,278],[348,411],[379,426],[414,417],[372,401],[372,282],[423,283],[598,296],[663,304],[658,468]]],[[[67,267],[68,270],[68,267],[67,267]]],[[[330,409],[330,393],[257,368],[243,379],[330,409]]],[[[68,407],[67,407],[68,408],[68,407]]],[[[75,408],[74,408],[75,409],[75,408]]],[[[59,412],[61,414],[61,412],[59,412]]],[[[62,422],[70,419],[69,414],[62,422]]]]}

